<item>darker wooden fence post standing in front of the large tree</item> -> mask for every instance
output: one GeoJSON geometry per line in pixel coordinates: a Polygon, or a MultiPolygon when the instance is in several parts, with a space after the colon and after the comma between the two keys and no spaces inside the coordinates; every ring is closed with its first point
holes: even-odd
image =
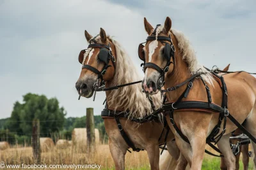
{"type": "Polygon", "coordinates": [[[40,152],[40,121],[33,120],[32,124],[32,148],[33,157],[35,164],[40,164],[41,162],[41,152],[40,152]]]}

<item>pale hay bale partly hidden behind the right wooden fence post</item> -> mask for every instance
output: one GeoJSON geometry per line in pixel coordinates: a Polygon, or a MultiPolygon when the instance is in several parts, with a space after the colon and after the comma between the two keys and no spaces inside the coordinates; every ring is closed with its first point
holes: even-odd
{"type": "MultiPolygon", "coordinates": [[[[100,143],[100,133],[99,129],[95,128],[95,144],[100,143]]],[[[74,128],[72,131],[72,143],[74,145],[86,145],[87,143],[87,131],[86,128],[74,128]]]]}

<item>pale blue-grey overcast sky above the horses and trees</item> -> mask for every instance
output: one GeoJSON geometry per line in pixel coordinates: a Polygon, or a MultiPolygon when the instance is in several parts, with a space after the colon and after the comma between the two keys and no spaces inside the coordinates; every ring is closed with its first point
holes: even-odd
{"type": "Polygon", "coordinates": [[[105,94],[96,101],[81,98],[75,83],[81,72],[77,56],[86,49],[84,29],[91,35],[100,27],[115,36],[143,75],[138,44],[145,41],[143,17],[156,26],[167,16],[195,47],[202,65],[256,72],[256,1],[4,1],[0,0],[0,118],[28,92],[56,97],[67,116],[95,114],[103,109],[105,94]]]}

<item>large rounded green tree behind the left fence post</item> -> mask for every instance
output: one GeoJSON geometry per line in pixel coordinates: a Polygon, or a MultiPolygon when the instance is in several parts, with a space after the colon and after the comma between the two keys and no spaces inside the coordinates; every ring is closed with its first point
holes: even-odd
{"type": "Polygon", "coordinates": [[[23,96],[23,104],[15,102],[8,128],[19,134],[31,134],[32,121],[40,120],[41,136],[59,132],[65,123],[65,110],[56,98],[28,93],[23,96]]]}

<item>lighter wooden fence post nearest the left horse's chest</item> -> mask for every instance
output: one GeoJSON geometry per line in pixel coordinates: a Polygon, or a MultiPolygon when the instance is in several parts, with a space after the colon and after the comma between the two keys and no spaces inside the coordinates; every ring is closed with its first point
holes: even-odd
{"type": "Polygon", "coordinates": [[[93,108],[86,109],[86,131],[87,131],[87,150],[88,153],[95,151],[95,128],[93,108]]]}

